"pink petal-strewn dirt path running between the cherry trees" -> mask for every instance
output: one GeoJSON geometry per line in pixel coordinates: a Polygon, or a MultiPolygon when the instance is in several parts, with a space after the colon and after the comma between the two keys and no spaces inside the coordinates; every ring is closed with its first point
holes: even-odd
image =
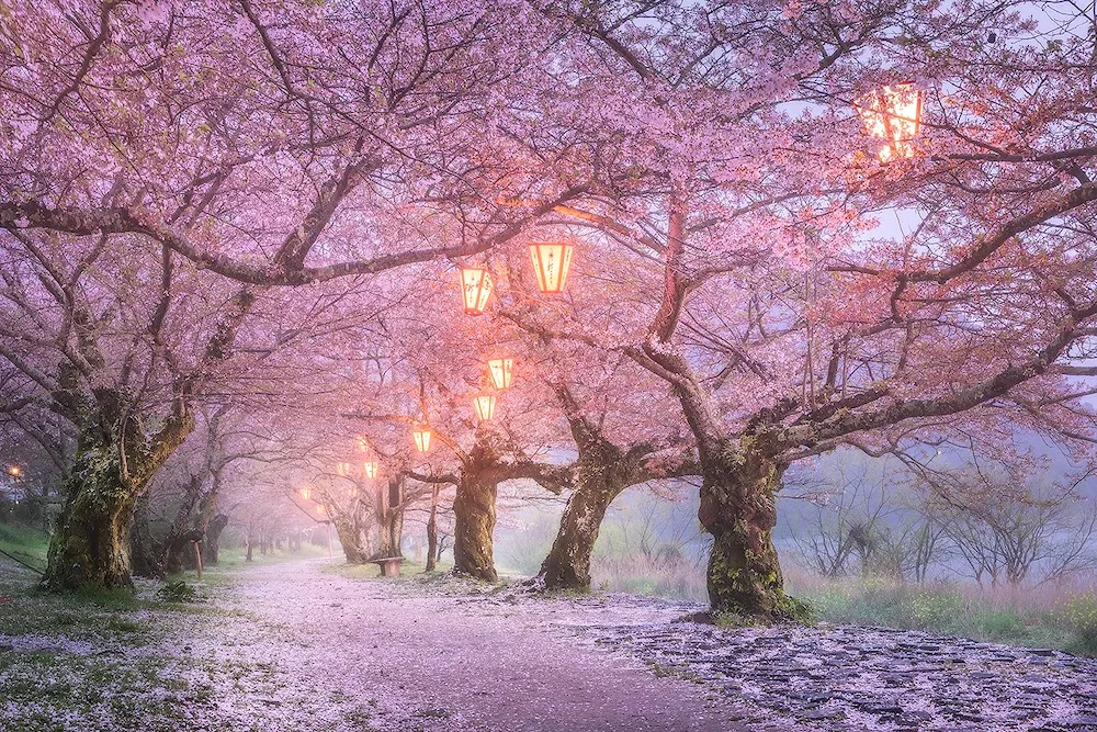
{"type": "MultiPolygon", "coordinates": [[[[425,597],[317,562],[230,579],[216,600],[230,612],[186,650],[238,669],[216,674],[216,686],[230,684],[212,695],[219,719],[301,730],[744,729],[732,721],[736,709],[705,687],[568,630],[607,622],[607,608],[425,597]]],[[[651,606],[609,612],[614,624],[675,615],[651,606]]]]}

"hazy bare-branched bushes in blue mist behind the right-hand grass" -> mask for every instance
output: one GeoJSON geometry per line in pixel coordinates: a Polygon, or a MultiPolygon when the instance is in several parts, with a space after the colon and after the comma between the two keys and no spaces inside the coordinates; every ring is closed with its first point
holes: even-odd
{"type": "Polygon", "coordinates": [[[1097,504],[1066,481],[1025,476],[993,461],[903,455],[908,465],[856,461],[801,486],[815,505],[791,533],[825,577],[877,575],[980,586],[1042,585],[1097,570],[1097,504]]]}

